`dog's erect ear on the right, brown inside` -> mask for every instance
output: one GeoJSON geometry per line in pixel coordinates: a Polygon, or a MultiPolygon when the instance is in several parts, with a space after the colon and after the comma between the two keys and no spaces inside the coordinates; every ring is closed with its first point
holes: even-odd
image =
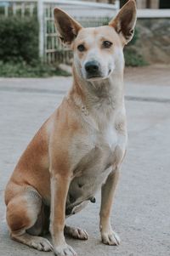
{"type": "Polygon", "coordinates": [[[129,0],[111,20],[109,26],[113,26],[118,34],[123,37],[124,44],[127,44],[133,38],[134,26],[136,24],[136,3],[129,0]]]}

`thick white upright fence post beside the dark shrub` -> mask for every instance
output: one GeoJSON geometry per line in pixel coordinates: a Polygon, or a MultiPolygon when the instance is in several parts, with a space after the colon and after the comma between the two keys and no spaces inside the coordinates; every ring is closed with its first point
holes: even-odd
{"type": "Polygon", "coordinates": [[[43,54],[44,54],[43,0],[37,1],[37,18],[39,22],[39,57],[41,60],[43,60],[43,54]]]}

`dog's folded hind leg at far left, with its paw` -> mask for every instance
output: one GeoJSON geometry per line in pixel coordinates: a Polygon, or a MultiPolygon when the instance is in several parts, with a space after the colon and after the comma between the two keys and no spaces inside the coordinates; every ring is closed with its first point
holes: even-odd
{"type": "Polygon", "coordinates": [[[47,239],[38,236],[41,231],[36,224],[42,210],[42,197],[36,190],[22,191],[14,196],[7,205],[7,222],[11,238],[40,251],[52,251],[47,239]],[[27,230],[29,233],[27,233],[27,230]],[[32,236],[31,233],[37,235],[32,236]]]}

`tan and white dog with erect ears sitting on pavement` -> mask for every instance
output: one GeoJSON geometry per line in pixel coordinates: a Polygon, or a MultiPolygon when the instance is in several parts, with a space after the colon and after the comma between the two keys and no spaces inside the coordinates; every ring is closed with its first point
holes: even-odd
{"type": "Polygon", "coordinates": [[[82,28],[61,9],[55,26],[74,52],[73,84],[59,108],[20,157],[6,191],[11,237],[55,255],[77,255],[64,233],[88,239],[85,230],[65,225],[102,186],[102,242],[118,245],[111,229],[111,205],[127,145],[122,49],[133,37],[136,6],[130,0],[108,26],[82,28]],[[49,229],[53,247],[40,236],[49,229]]]}

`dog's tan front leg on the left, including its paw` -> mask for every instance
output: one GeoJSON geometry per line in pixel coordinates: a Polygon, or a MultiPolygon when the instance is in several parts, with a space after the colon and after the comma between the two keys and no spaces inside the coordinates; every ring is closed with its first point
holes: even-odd
{"type": "Polygon", "coordinates": [[[70,174],[51,174],[51,223],[50,231],[54,242],[54,253],[57,256],[76,256],[77,253],[66,244],[65,202],[71,183],[70,174]]]}

